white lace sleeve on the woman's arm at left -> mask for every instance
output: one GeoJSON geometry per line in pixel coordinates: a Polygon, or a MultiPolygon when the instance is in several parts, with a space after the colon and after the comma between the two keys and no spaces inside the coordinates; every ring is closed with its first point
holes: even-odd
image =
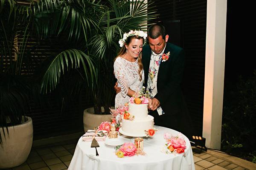
{"type": "Polygon", "coordinates": [[[127,83],[127,80],[125,79],[125,69],[126,68],[122,65],[122,59],[118,57],[114,62],[114,74],[118,84],[120,85],[120,88],[121,88],[120,93],[122,94],[123,97],[125,97],[128,92],[128,83],[127,83]]]}

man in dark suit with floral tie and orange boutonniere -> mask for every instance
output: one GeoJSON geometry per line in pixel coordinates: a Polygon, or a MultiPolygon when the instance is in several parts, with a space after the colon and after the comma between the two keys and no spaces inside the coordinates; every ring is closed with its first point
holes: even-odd
{"type": "MultiPolygon", "coordinates": [[[[145,87],[152,97],[149,103],[155,125],[169,127],[191,138],[192,123],[180,83],[185,54],[182,48],[167,42],[166,29],[155,24],[148,29],[148,45],[143,47],[142,63],[145,87]]],[[[115,86],[116,91],[117,88],[115,86]]]]}

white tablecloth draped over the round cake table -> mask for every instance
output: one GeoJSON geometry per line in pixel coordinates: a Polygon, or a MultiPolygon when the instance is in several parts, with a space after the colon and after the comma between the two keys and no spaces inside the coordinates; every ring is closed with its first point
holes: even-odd
{"type": "MultiPolygon", "coordinates": [[[[179,132],[155,126],[158,131],[152,138],[144,138],[145,156],[125,156],[118,158],[113,147],[107,147],[105,142],[99,142],[97,147],[99,156],[96,156],[91,142],[83,142],[80,138],[68,170],[195,170],[192,148],[189,139],[185,136],[185,157],[181,154],[166,154],[161,147],[166,143],[163,138],[165,132],[177,135],[179,132]]],[[[134,138],[119,136],[125,142],[134,143],[134,138]]]]}

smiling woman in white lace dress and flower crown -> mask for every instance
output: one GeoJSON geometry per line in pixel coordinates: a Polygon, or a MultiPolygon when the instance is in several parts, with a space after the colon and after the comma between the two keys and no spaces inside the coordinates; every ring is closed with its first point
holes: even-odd
{"type": "Polygon", "coordinates": [[[141,51],[146,37],[147,34],[143,31],[131,30],[119,40],[121,49],[115,58],[114,74],[121,92],[116,94],[115,108],[124,106],[130,97],[143,87],[141,51]]]}

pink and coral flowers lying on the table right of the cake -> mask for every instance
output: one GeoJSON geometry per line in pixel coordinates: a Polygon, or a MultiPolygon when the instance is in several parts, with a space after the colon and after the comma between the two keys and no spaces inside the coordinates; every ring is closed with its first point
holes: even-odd
{"type": "Polygon", "coordinates": [[[163,136],[166,139],[166,144],[162,148],[163,153],[184,153],[186,149],[186,141],[183,134],[179,133],[177,136],[172,136],[170,133],[166,132],[163,136]]]}

